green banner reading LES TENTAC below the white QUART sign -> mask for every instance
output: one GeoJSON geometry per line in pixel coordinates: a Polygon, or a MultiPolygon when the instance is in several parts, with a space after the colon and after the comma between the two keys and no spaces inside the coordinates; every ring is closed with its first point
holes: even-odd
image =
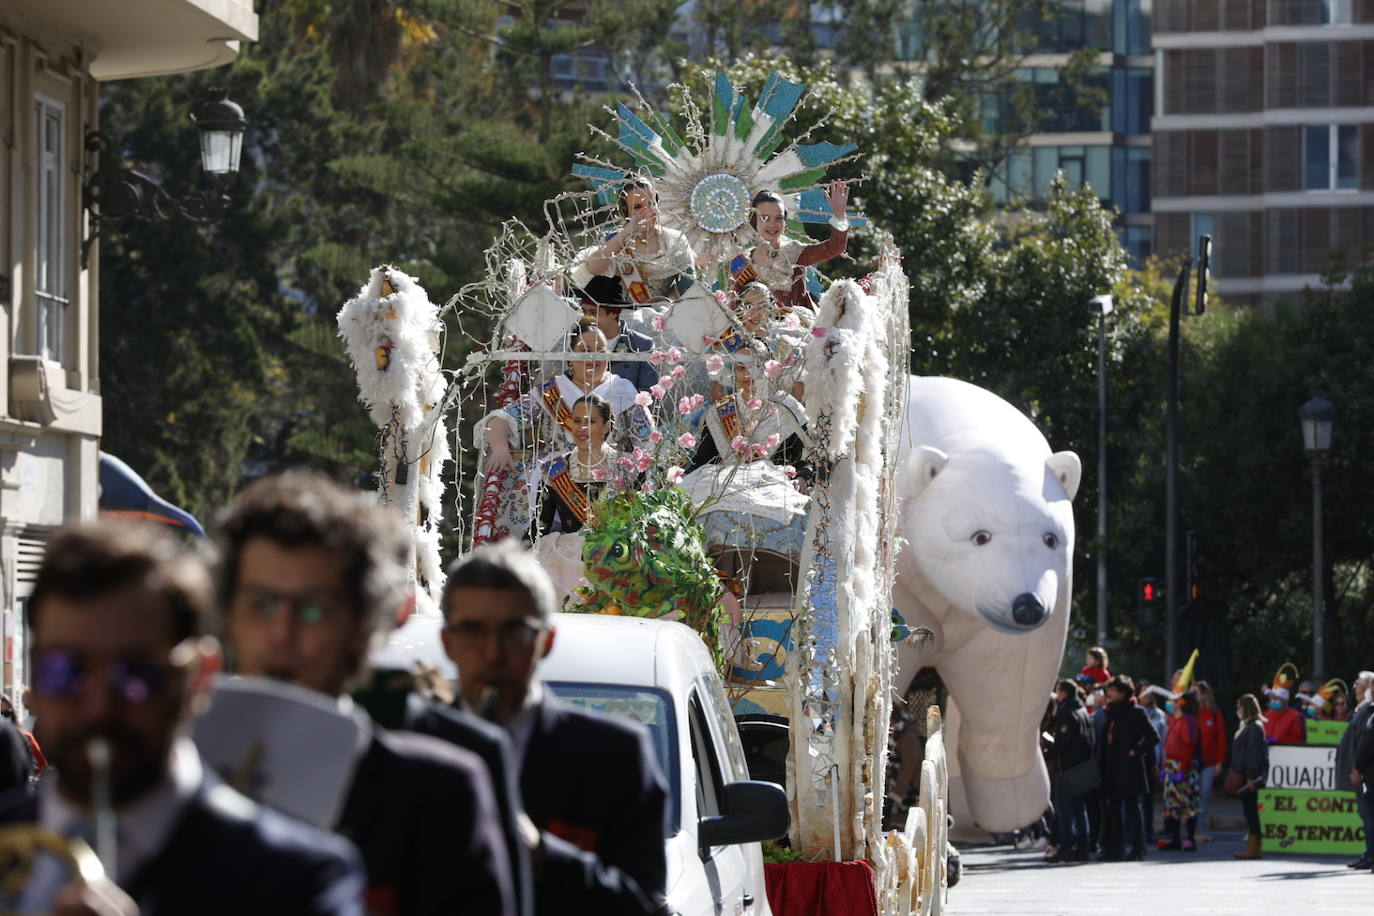
{"type": "Polygon", "coordinates": [[[1265,853],[1359,856],[1364,851],[1355,792],[1263,788],[1260,831],[1265,853]]]}

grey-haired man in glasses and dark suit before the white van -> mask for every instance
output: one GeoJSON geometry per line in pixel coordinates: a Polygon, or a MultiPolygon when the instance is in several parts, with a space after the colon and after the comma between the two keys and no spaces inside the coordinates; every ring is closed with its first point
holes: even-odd
{"type": "Polygon", "coordinates": [[[513,541],[481,547],[449,567],[442,607],[459,705],[506,729],[539,829],[534,912],[660,912],[664,777],[642,726],[574,710],[539,683],[554,645],[548,574],[513,541]]]}

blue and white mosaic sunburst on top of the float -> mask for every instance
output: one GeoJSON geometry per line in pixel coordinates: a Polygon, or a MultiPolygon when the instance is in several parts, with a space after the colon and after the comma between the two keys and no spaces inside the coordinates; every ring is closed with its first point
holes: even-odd
{"type": "MultiPolygon", "coordinates": [[[[592,185],[603,206],[616,203],[625,179],[649,174],[658,191],[662,222],[684,232],[698,258],[710,264],[728,262],[757,243],[749,210],[760,191],[780,194],[787,202],[789,235],[811,242],[805,224],[830,220],[830,202],[822,188],[826,170],[855,158],[859,147],[787,143],[783,126],[805,93],[804,84],[775,71],[750,104],[721,73],[716,76],[706,122],[683,93],[684,132],[643,99],[647,121],[617,104],[620,133],[610,139],[633,159],[633,169],[584,157],[587,163],[574,165],[573,174],[592,185]]],[[[849,213],[848,218],[851,227],[867,225],[857,213],[849,213]]]]}

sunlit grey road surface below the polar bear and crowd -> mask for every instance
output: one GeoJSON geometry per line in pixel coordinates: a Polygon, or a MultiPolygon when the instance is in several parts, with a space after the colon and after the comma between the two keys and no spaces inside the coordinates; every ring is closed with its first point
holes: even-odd
{"type": "Polygon", "coordinates": [[[1217,831],[1197,853],[1156,853],[1143,862],[1046,865],[1039,849],[963,847],[963,880],[947,913],[970,916],[1370,916],[1374,873],[1347,857],[1265,856],[1235,861],[1241,834],[1217,831]]]}

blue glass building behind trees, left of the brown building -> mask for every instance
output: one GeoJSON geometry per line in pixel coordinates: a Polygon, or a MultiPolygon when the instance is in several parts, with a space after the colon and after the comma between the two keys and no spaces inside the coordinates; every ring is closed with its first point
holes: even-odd
{"type": "MultiPolygon", "coordinates": [[[[1044,122],[992,176],[993,199],[999,205],[1035,206],[1062,169],[1070,185],[1090,185],[1103,205],[1118,211],[1123,243],[1134,257],[1143,258],[1153,250],[1151,0],[1054,0],[1050,5],[1048,15],[1022,22],[1033,45],[1024,49],[1026,56],[1017,70],[1017,77],[1033,87],[1044,122]],[[1103,91],[1106,104],[1099,111],[1081,106],[1065,85],[1069,55],[1081,48],[1098,51],[1098,69],[1090,81],[1103,91]]],[[[896,56],[919,62],[923,55],[918,18],[899,36],[896,56]]],[[[989,133],[1006,129],[1007,115],[999,100],[989,99],[984,111],[989,133]]]]}

